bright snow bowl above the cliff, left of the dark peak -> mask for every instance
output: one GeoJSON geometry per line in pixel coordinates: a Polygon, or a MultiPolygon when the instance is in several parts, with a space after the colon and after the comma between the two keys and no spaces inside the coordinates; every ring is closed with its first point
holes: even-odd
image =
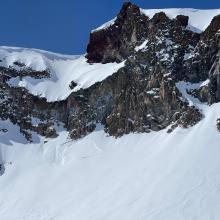
{"type": "Polygon", "coordinates": [[[16,77],[9,80],[11,86],[25,87],[31,94],[44,97],[48,102],[64,100],[71,92],[88,88],[124,66],[124,62],[91,65],[83,55],[61,55],[43,50],[14,47],[0,47],[0,60],[0,66],[12,67],[18,71],[23,68],[36,71],[49,70],[49,78],[16,77]],[[25,67],[15,65],[16,61],[25,64],[25,67]],[[72,81],[77,83],[74,89],[69,87],[72,81]]]}

